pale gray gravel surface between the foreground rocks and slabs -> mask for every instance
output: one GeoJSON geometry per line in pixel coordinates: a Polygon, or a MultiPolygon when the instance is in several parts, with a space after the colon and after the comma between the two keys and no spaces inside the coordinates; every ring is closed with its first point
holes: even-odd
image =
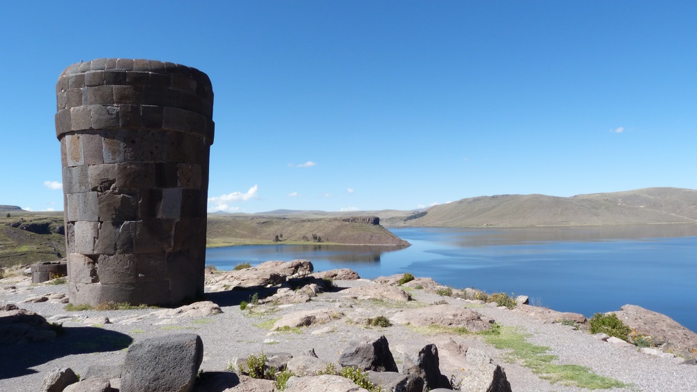
{"type": "MultiPolygon", "coordinates": [[[[366,280],[335,281],[339,288],[373,284],[366,280]]],[[[388,328],[367,328],[353,324],[351,319],[360,320],[365,315],[390,316],[403,306],[424,306],[444,299],[423,290],[412,290],[416,301],[388,303],[381,301],[358,301],[344,299],[341,291],[320,294],[308,303],[293,306],[259,306],[250,311],[240,310],[241,300],[248,300],[252,291],[235,290],[224,293],[210,293],[208,299],[221,306],[220,315],[201,319],[160,319],[153,315],[156,309],[114,310],[98,312],[94,310],[67,312],[61,303],[22,303],[24,299],[37,294],[66,292],[67,285],[30,285],[22,280],[0,280],[0,303],[15,303],[43,315],[47,319],[56,315],[66,315],[63,326],[66,333],[52,342],[11,345],[2,348],[0,356],[0,391],[38,391],[44,377],[52,368],[70,367],[79,374],[85,374],[89,365],[111,365],[121,363],[131,342],[167,333],[197,333],[204,342],[204,361],[201,369],[205,371],[224,370],[236,358],[259,352],[289,352],[300,354],[314,348],[317,356],[326,361],[336,362],[339,354],[348,347],[351,340],[363,335],[385,335],[390,342],[395,360],[401,367],[401,356],[396,354],[397,345],[413,342],[442,340],[442,336],[423,336],[405,326],[388,328]],[[5,289],[15,285],[16,290],[5,289]],[[275,333],[268,330],[270,322],[282,315],[298,310],[336,308],[346,314],[328,324],[309,326],[300,332],[275,333]],[[261,310],[265,310],[261,312],[261,310]],[[85,317],[106,316],[114,324],[89,326],[82,323],[85,317]],[[132,318],[144,317],[130,324],[132,318]],[[330,332],[313,334],[329,327],[330,332]],[[266,340],[266,343],[265,343],[266,340]]],[[[447,298],[452,304],[471,306],[461,299],[447,298]]],[[[541,324],[521,312],[493,308],[489,306],[474,308],[482,315],[495,319],[502,326],[516,326],[530,333],[527,338],[535,345],[551,348],[549,354],[558,356],[556,363],[583,365],[599,375],[613,377],[631,384],[629,389],[611,391],[696,391],[697,366],[679,364],[678,359],[660,358],[637,351],[636,347],[618,347],[597,340],[583,331],[574,331],[562,324],[541,324]]],[[[454,336],[454,340],[466,347],[477,347],[487,352],[505,368],[514,391],[586,391],[575,386],[565,386],[539,378],[528,368],[518,363],[506,363],[505,352],[491,347],[479,336],[454,336]]],[[[443,366],[442,366],[443,367],[443,366]]],[[[446,375],[447,372],[444,371],[446,375]]],[[[450,376],[450,375],[448,375],[450,376]]]]}

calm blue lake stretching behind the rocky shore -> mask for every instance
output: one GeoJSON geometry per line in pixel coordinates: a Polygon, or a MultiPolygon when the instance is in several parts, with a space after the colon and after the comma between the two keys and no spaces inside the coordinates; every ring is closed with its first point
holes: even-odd
{"type": "Polygon", "coordinates": [[[588,317],[631,303],[697,331],[697,225],[390,230],[412,246],[233,246],[206,250],[206,263],[309,259],[316,271],[369,279],[410,272],[588,317]]]}

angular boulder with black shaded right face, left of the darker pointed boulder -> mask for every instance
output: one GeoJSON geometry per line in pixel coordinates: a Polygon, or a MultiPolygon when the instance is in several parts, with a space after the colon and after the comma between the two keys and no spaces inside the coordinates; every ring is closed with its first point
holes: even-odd
{"type": "Polygon", "coordinates": [[[339,356],[339,365],[376,372],[397,372],[397,363],[384,335],[377,339],[355,340],[339,356]]]}

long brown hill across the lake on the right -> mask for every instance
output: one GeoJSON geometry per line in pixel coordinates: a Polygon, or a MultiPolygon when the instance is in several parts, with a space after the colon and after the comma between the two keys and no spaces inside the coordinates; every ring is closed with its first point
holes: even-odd
{"type": "Polygon", "coordinates": [[[480,196],[433,206],[424,212],[385,219],[383,225],[473,227],[697,223],[697,190],[644,188],[573,197],[480,196]]]}

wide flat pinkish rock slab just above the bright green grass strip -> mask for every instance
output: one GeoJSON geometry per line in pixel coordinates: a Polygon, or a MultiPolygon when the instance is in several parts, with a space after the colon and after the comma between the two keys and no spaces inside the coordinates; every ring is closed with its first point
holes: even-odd
{"type": "Polygon", "coordinates": [[[482,319],[482,316],[474,310],[447,303],[403,310],[392,316],[390,321],[414,326],[465,327],[472,332],[491,329],[491,324],[493,323],[493,320],[482,319]]]}

